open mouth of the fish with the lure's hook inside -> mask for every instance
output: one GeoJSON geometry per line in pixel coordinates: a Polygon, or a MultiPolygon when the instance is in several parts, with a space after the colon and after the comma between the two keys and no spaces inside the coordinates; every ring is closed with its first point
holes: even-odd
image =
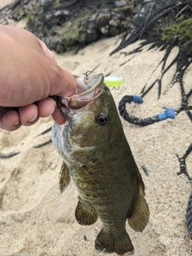
{"type": "Polygon", "coordinates": [[[77,82],[77,91],[80,94],[74,94],[70,97],[60,97],[62,106],[70,110],[78,110],[102,93],[104,86],[103,74],[86,75],[86,78],[75,78],[77,82]]]}

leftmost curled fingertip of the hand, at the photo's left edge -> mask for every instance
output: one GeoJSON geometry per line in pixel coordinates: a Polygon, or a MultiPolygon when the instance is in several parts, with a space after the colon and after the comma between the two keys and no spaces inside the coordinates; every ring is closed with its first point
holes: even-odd
{"type": "Polygon", "coordinates": [[[19,114],[16,110],[8,110],[5,114],[3,114],[0,120],[0,128],[4,130],[17,130],[21,125],[19,122],[19,114]]]}

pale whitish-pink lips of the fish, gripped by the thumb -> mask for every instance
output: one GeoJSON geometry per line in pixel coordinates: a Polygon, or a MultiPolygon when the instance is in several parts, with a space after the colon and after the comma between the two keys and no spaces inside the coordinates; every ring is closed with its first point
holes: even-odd
{"type": "MultiPolygon", "coordinates": [[[[89,85],[89,79],[93,79],[94,81],[90,81],[93,83],[93,86],[90,89],[82,92],[81,94],[74,94],[70,97],[63,96],[61,98],[62,106],[70,109],[70,110],[78,110],[85,106],[88,102],[93,101],[95,98],[102,93],[102,89],[104,86],[104,76],[103,74],[96,74],[92,76],[87,76],[84,79],[84,82],[89,85]]],[[[91,85],[90,83],[90,85],[91,85]]]]}

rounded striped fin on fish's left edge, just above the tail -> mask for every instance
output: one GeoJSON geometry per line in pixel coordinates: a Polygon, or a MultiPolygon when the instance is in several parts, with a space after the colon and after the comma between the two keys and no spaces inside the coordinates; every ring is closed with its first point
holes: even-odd
{"type": "Polygon", "coordinates": [[[78,198],[78,206],[75,210],[75,218],[81,225],[92,225],[97,221],[98,216],[94,214],[94,211],[87,205],[82,198],[78,198]]]}

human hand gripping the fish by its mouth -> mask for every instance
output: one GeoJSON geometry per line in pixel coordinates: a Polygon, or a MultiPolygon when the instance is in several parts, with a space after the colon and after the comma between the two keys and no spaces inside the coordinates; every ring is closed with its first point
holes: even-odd
{"type": "Polygon", "coordinates": [[[76,92],[74,77],[62,70],[54,54],[27,30],[0,25],[0,128],[17,130],[50,115],[66,118],[50,96],[76,92]]]}

